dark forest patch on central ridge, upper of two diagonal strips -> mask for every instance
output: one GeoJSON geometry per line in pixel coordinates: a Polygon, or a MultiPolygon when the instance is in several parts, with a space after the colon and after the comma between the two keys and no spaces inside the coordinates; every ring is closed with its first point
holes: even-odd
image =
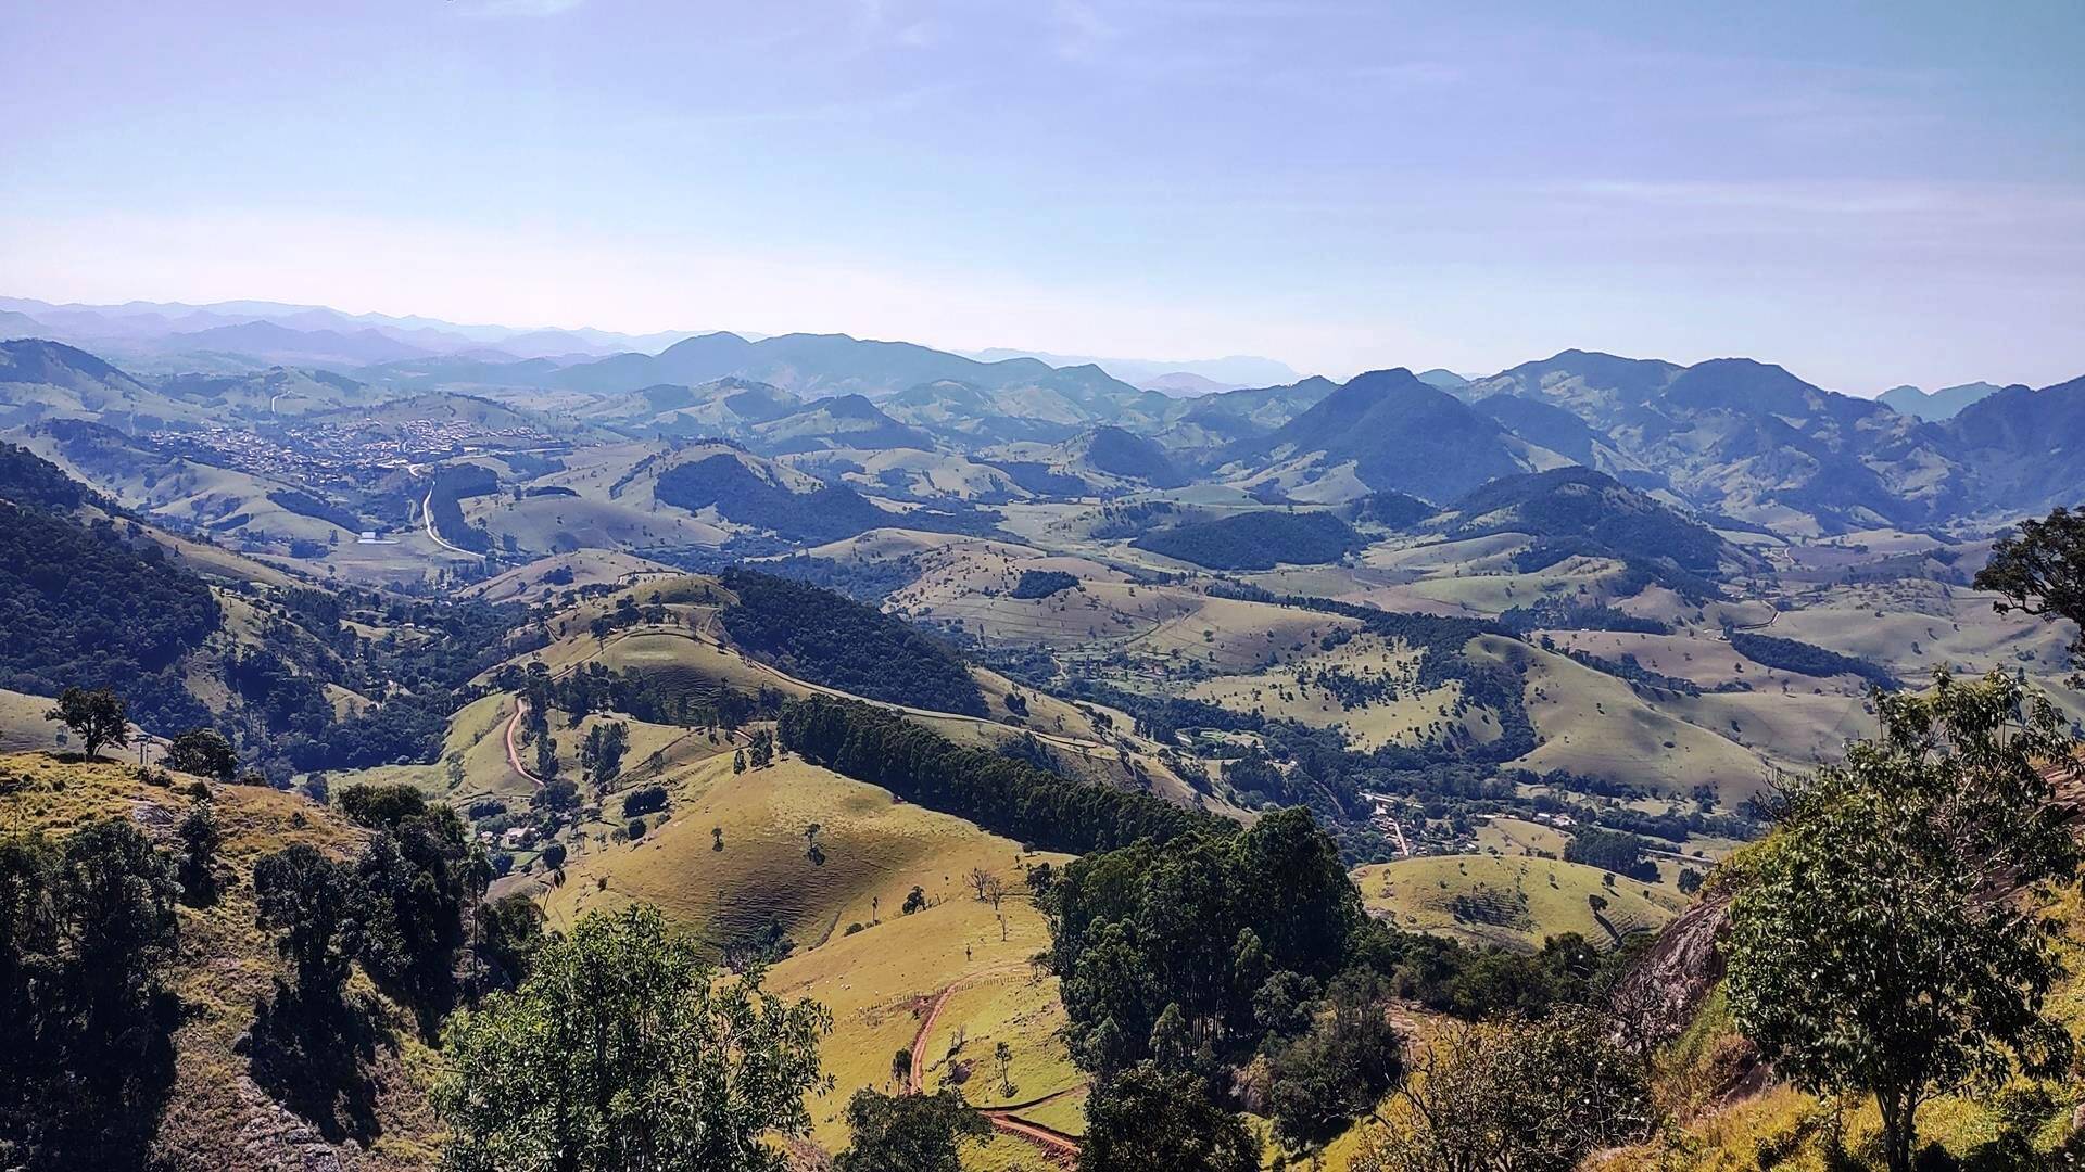
{"type": "Polygon", "coordinates": [[[778,667],[872,701],[984,715],[984,694],[949,649],[903,619],[830,590],[726,569],[732,640],[778,667]]]}

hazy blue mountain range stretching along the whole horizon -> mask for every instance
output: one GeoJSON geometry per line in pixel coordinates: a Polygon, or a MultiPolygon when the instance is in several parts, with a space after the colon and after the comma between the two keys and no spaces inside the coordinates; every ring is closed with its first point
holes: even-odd
{"type": "MultiPolygon", "coordinates": [[[[131,428],[194,428],[461,392],[555,405],[628,438],[728,438],[769,457],[945,453],[1015,480],[1059,478],[1057,490],[1209,482],[1257,500],[1403,492],[1439,503],[1503,475],[1585,465],[1795,536],[2002,519],[2085,490],[2085,459],[2062,442],[2085,434],[2079,382],[1989,390],[1945,419],[1922,419],[1753,359],[1678,365],[1589,350],[1476,380],[1399,367],[1174,398],[1097,365],[980,361],[842,334],[703,334],[657,355],[511,361],[484,350],[388,357],[409,344],[373,325],[188,334],[250,348],[298,334],[298,344],[384,361],[323,377],[292,377],[292,365],[152,375],[63,342],[10,342],[0,350],[0,421],[123,415],[131,428]]],[[[1931,398],[1968,396],[1949,388],[1931,398]]],[[[961,480],[978,475],[972,467],[961,480]]]]}

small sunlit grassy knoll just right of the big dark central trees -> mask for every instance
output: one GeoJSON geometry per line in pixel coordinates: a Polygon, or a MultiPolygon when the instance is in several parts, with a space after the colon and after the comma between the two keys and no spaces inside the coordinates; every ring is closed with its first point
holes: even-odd
{"type": "Polygon", "coordinates": [[[1626,876],[1518,855],[1399,859],[1357,868],[1353,880],[1368,909],[1399,928],[1520,951],[1564,932],[1610,947],[1614,932],[1658,930],[1687,907],[1683,897],[1626,876]],[[1601,918],[1614,932],[1595,918],[1595,895],[1608,901],[1601,918]]]}

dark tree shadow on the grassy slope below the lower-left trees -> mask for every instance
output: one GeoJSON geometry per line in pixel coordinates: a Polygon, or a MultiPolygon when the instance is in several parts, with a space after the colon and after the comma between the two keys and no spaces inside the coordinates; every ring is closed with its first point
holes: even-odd
{"type": "Polygon", "coordinates": [[[373,997],[302,999],[275,984],[273,1001],[254,1005],[248,1068],[277,1103],[338,1143],[377,1137],[377,1086],[369,1078],[377,1047],[398,1041],[373,997]]]}

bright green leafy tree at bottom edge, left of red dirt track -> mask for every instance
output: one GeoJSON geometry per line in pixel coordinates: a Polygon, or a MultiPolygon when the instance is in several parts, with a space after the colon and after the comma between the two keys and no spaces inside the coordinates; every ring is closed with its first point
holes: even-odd
{"type": "Polygon", "coordinates": [[[515,993],[450,1020],[436,1107],[450,1170],[780,1172],[769,1134],[811,1126],[830,1086],[824,1007],[784,1003],[759,974],[717,980],[657,907],[580,920],[515,993]]]}

